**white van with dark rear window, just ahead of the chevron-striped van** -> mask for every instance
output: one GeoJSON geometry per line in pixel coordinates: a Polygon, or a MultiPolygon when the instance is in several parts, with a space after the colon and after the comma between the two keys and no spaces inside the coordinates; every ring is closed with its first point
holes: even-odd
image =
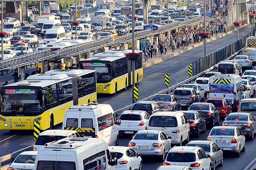
{"type": "Polygon", "coordinates": [[[217,72],[228,75],[239,75],[239,68],[236,61],[222,61],[217,64],[217,72]]]}

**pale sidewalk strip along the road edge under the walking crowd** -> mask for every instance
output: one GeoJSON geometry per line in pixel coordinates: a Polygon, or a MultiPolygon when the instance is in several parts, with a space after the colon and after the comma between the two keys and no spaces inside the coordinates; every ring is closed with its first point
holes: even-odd
{"type": "MultiPolygon", "coordinates": [[[[249,27],[249,26],[251,26],[251,25],[250,25],[250,24],[245,24],[244,26],[241,26],[241,27],[239,28],[239,30],[240,30],[241,28],[243,28],[243,27],[247,28],[247,27],[249,27]]],[[[214,41],[214,40],[219,40],[219,38],[225,37],[225,36],[230,36],[230,37],[231,37],[230,34],[231,34],[231,33],[234,33],[234,32],[236,32],[236,29],[234,29],[234,30],[232,30],[232,31],[229,31],[229,32],[227,32],[227,33],[218,33],[219,35],[213,36],[213,37],[211,37],[210,39],[206,39],[206,48],[207,48],[207,43],[208,43],[208,42],[212,42],[212,41],[214,41]]],[[[249,32],[248,32],[248,33],[249,33],[249,32]]],[[[240,38],[242,38],[242,36],[241,36],[240,38]]],[[[169,58],[172,58],[172,57],[174,57],[174,56],[177,56],[177,55],[179,55],[179,54],[181,54],[181,53],[184,53],[185,51],[188,51],[188,50],[190,50],[190,49],[196,48],[196,47],[201,46],[201,45],[203,45],[203,44],[204,44],[204,42],[200,42],[200,43],[197,43],[197,44],[190,44],[189,47],[186,47],[186,48],[184,47],[184,49],[176,49],[174,52],[172,52],[172,49],[171,49],[171,48],[168,48],[168,52],[166,53],[166,55],[160,56],[160,55],[158,54],[157,56],[153,56],[153,58],[149,58],[147,62],[144,62],[145,59],[143,58],[143,68],[147,68],[147,67],[149,67],[149,66],[152,66],[153,64],[157,64],[157,63],[159,63],[159,62],[162,62],[162,61],[164,61],[164,60],[167,60],[167,59],[169,59],[169,58]]],[[[227,44],[227,45],[228,45],[228,44],[227,44]]],[[[181,46],[180,48],[182,48],[182,46],[181,46]]],[[[213,52],[213,51],[211,51],[210,53],[212,53],[212,52],[213,52]]],[[[198,56],[197,56],[197,57],[198,57],[198,56]]]]}

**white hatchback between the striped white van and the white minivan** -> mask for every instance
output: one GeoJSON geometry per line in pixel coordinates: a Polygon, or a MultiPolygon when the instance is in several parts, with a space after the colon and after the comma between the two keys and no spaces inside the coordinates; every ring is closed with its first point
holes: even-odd
{"type": "Polygon", "coordinates": [[[119,134],[135,134],[139,130],[145,130],[148,126],[150,115],[145,111],[126,110],[117,120],[119,134]]]}

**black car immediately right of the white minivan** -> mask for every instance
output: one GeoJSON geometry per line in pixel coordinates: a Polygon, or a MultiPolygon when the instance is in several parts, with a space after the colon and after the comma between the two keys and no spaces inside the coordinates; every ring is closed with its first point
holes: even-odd
{"type": "Polygon", "coordinates": [[[205,133],[206,122],[202,118],[199,112],[196,111],[182,111],[187,119],[189,119],[189,130],[190,133],[196,137],[200,136],[200,132],[205,133]]]}

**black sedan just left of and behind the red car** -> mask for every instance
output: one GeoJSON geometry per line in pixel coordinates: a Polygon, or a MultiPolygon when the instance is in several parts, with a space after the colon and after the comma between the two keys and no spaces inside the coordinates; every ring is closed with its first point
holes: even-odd
{"type": "Polygon", "coordinates": [[[212,103],[193,103],[189,107],[189,111],[197,111],[211,127],[219,124],[219,111],[212,103]]]}

